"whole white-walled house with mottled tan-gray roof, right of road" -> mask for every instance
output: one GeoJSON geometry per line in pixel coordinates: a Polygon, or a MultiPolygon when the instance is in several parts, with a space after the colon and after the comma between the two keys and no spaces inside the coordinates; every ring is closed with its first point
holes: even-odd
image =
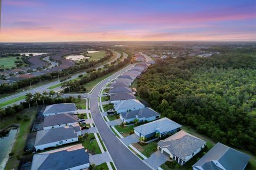
{"type": "Polygon", "coordinates": [[[165,140],[157,143],[157,150],[170,158],[176,160],[178,164],[184,165],[188,160],[193,158],[206,145],[202,139],[184,131],[179,131],[165,140]]]}

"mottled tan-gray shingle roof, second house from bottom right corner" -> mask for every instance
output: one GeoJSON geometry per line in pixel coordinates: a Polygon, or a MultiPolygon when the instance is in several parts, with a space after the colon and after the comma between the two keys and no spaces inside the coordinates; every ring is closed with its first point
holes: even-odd
{"type": "Polygon", "coordinates": [[[167,148],[173,155],[184,160],[187,156],[193,154],[193,152],[205,145],[205,143],[206,142],[201,139],[186,134],[179,139],[170,141],[161,140],[157,145],[167,148]]]}

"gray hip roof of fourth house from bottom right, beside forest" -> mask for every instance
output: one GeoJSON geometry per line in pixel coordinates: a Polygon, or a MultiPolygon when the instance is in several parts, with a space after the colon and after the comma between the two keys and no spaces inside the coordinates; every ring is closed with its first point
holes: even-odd
{"type": "Polygon", "coordinates": [[[153,116],[159,116],[159,114],[156,111],[154,111],[153,109],[151,109],[149,107],[142,108],[137,111],[122,113],[122,117],[125,120],[128,120],[130,118],[135,118],[136,115],[138,115],[138,117],[146,117],[146,118],[153,117],[153,116]]]}

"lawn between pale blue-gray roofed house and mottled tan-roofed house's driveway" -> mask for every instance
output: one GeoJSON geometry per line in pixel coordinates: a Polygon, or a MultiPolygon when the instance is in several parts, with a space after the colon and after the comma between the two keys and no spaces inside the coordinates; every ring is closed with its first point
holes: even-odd
{"type": "Polygon", "coordinates": [[[150,157],[155,151],[157,151],[157,141],[153,141],[148,143],[148,145],[141,146],[139,143],[132,143],[136,149],[138,149],[141,154],[145,155],[146,157],[150,157]]]}

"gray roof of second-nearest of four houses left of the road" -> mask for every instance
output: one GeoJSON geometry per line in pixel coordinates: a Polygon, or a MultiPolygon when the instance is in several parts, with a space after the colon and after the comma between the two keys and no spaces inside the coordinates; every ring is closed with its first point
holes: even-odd
{"type": "Polygon", "coordinates": [[[44,145],[46,143],[57,142],[61,140],[76,138],[74,128],[53,128],[49,130],[37,131],[35,146],[44,145]]]}

